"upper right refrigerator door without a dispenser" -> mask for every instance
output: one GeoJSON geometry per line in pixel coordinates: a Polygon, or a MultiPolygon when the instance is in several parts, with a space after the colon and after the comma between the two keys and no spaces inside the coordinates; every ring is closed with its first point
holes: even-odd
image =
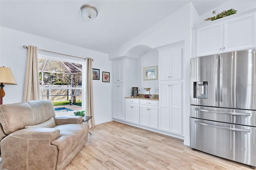
{"type": "Polygon", "coordinates": [[[220,107],[256,110],[255,51],[220,55],[220,107]]]}

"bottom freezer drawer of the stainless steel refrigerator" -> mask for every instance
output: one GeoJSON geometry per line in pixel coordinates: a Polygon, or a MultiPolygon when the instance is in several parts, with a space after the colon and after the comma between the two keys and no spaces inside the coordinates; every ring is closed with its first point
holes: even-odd
{"type": "Polygon", "coordinates": [[[256,127],[190,118],[190,147],[256,166],[256,127]]]}

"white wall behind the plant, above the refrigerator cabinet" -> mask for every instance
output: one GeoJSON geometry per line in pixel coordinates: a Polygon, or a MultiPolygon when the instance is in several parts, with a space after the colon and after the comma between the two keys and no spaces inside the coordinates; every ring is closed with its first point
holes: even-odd
{"type": "Polygon", "coordinates": [[[237,10],[236,13],[244,12],[246,10],[256,8],[256,0],[229,0],[228,2],[225,2],[224,4],[221,4],[220,6],[213,8],[212,10],[201,15],[199,18],[200,23],[210,22],[210,21],[204,21],[204,20],[206,18],[215,16],[215,14],[212,14],[212,11],[214,10],[216,10],[216,13],[219,14],[223,12],[223,10],[230,10],[232,8],[234,10],[237,10]]]}

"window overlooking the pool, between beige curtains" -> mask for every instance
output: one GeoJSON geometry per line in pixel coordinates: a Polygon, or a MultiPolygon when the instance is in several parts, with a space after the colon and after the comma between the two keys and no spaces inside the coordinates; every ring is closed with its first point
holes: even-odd
{"type": "Polygon", "coordinates": [[[51,100],[56,116],[82,110],[84,62],[38,54],[40,99],[51,100]]]}

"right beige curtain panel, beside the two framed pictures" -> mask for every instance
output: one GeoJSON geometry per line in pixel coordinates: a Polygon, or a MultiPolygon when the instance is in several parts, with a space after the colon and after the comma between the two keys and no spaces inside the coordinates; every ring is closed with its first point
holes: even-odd
{"type": "Polygon", "coordinates": [[[95,126],[94,121],[94,107],[93,107],[93,95],[92,95],[92,59],[86,58],[87,64],[87,79],[86,79],[86,115],[92,116],[92,119],[88,121],[90,128],[95,126]]]}

